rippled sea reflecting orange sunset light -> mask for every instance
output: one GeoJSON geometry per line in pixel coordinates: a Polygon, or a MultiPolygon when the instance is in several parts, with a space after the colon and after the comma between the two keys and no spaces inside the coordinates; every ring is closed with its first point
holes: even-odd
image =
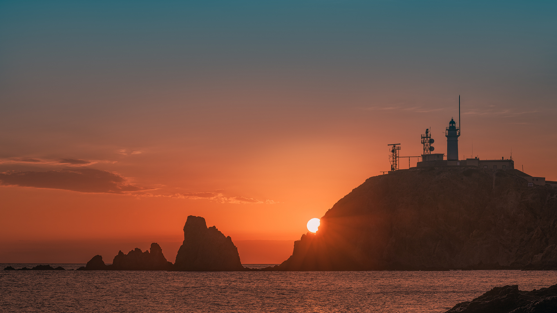
{"type": "MultiPolygon", "coordinates": [[[[37,264],[0,264],[31,268],[37,264]]],[[[50,264],[76,269],[85,264],[50,264]]],[[[272,265],[245,264],[247,267],[272,265]]],[[[557,271],[3,271],[0,312],[445,312],[557,271]]]]}

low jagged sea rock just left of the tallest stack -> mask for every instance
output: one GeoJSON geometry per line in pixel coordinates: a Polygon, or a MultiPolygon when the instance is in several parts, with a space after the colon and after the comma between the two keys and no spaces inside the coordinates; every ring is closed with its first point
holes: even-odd
{"type": "Polygon", "coordinates": [[[141,249],[135,248],[125,255],[122,251],[114,257],[111,270],[125,271],[169,271],[172,270],[172,263],[168,262],[163,255],[163,250],[159,244],[153,242],[150,252],[141,252],[141,249]]]}

